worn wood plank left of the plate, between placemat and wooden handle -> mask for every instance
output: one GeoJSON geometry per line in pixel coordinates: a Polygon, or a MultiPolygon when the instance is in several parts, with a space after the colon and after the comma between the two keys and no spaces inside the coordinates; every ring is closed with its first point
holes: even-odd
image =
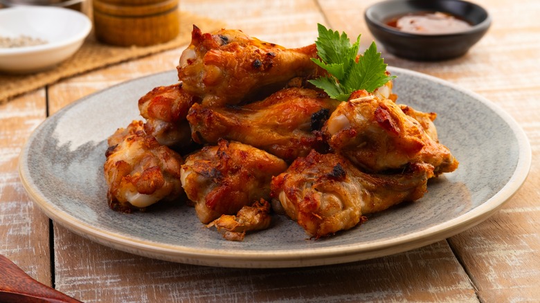
{"type": "Polygon", "coordinates": [[[49,220],[26,195],[17,166],[24,142],[46,116],[45,108],[44,89],[0,105],[0,254],[51,285],[49,220]]]}

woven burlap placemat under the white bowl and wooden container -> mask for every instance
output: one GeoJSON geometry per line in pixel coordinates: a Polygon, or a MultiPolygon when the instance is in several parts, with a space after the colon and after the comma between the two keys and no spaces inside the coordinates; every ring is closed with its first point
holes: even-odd
{"type": "Polygon", "coordinates": [[[100,44],[91,33],[77,53],[51,70],[33,75],[0,74],[0,104],[65,77],[189,44],[193,24],[206,32],[219,30],[224,26],[222,21],[180,12],[180,33],[176,39],[154,46],[128,48],[100,44]]]}

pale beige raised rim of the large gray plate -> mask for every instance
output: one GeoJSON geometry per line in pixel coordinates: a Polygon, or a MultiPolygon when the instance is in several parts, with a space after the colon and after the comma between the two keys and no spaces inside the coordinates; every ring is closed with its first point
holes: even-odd
{"type": "Polygon", "coordinates": [[[189,246],[130,239],[127,235],[120,235],[109,230],[95,228],[94,226],[91,226],[91,224],[80,221],[80,219],[73,217],[57,208],[54,203],[51,203],[51,201],[48,201],[45,196],[42,196],[39,194],[39,192],[37,192],[36,188],[32,186],[31,178],[28,172],[27,160],[30,143],[33,142],[35,136],[37,136],[39,131],[46,126],[48,121],[52,120],[51,118],[60,116],[62,113],[69,111],[71,107],[75,107],[77,104],[80,104],[89,98],[93,98],[94,95],[102,91],[115,89],[118,86],[129,85],[129,82],[143,80],[146,77],[155,77],[165,73],[174,73],[174,71],[154,73],[152,75],[146,75],[144,77],[138,77],[126,82],[121,82],[119,84],[115,84],[114,86],[109,86],[107,89],[96,91],[95,93],[72,102],[54,113],[52,116],[46,118],[36,127],[33,133],[30,134],[28,140],[26,140],[26,143],[24,144],[24,147],[21,149],[21,153],[19,155],[19,177],[24,189],[28,193],[28,196],[30,196],[30,199],[37,204],[37,206],[47,215],[47,217],[55,221],[55,223],[59,223],[61,226],[64,226],[64,228],[67,228],[78,235],[82,235],[91,241],[95,241],[98,244],[123,250],[125,252],[130,252],[135,255],[142,255],[144,257],[152,257],[165,261],[237,268],[304,267],[360,261],[363,259],[383,257],[414,248],[420,248],[476,226],[476,224],[484,221],[494,212],[496,212],[496,210],[501,208],[508,200],[512,198],[512,196],[514,196],[523,183],[525,183],[532,163],[532,151],[525,132],[519,126],[516,120],[514,120],[509,113],[498,107],[497,104],[487,100],[487,98],[484,98],[482,95],[478,95],[473,91],[463,89],[456,84],[452,84],[451,82],[442,80],[438,77],[419,73],[417,71],[411,71],[405,68],[393,66],[388,66],[388,70],[390,72],[397,71],[403,74],[410,74],[415,77],[424,78],[430,82],[436,82],[438,84],[442,84],[443,86],[449,86],[451,89],[465,93],[471,98],[474,98],[479,102],[483,102],[486,107],[494,111],[497,116],[504,120],[510,129],[512,129],[514,136],[516,136],[516,140],[519,144],[519,153],[516,169],[501,190],[465,214],[461,214],[456,218],[444,221],[438,225],[397,238],[376,241],[375,243],[368,244],[355,243],[316,249],[306,248],[305,250],[291,249],[278,251],[237,249],[224,250],[217,248],[201,249],[192,248],[189,246]]]}

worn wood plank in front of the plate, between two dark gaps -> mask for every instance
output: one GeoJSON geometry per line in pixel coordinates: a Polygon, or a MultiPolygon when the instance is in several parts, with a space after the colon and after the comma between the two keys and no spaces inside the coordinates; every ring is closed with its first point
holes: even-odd
{"type": "Polygon", "coordinates": [[[119,252],[55,226],[57,289],[85,302],[478,302],[446,241],[313,268],[174,264],[119,252]],[[66,252],[71,252],[71,259],[66,252]],[[79,252],[87,252],[80,255],[79,252]],[[68,266],[69,265],[69,266],[68,266]]]}

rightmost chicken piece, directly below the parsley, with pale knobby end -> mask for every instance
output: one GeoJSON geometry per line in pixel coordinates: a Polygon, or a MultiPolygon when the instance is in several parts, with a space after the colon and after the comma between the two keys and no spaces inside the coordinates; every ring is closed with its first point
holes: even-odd
{"type": "Polygon", "coordinates": [[[435,174],[455,170],[458,161],[436,140],[427,122],[431,118],[407,111],[411,116],[392,100],[356,91],[332,113],[323,132],[335,152],[368,172],[402,169],[408,163],[431,164],[435,174]]]}

